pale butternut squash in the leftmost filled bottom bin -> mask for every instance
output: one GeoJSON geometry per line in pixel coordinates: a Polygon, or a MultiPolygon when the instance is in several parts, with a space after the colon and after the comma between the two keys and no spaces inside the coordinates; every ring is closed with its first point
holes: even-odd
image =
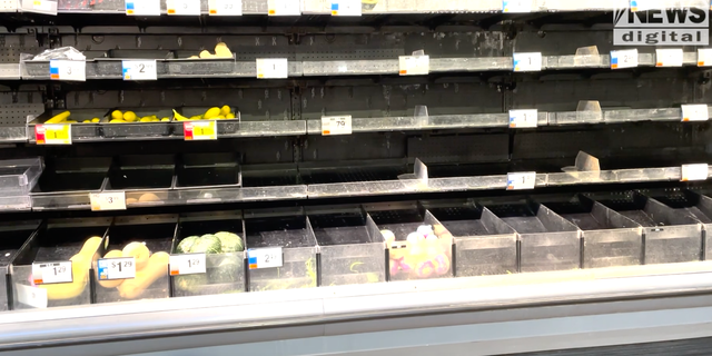
{"type": "Polygon", "coordinates": [[[101,237],[90,237],[85,241],[79,254],[72,256],[71,260],[71,283],[60,283],[51,285],[34,285],[32,276],[30,276],[30,285],[46,289],[47,299],[61,300],[76,298],[85,291],[89,283],[89,268],[93,260],[93,254],[101,244],[101,237]]]}

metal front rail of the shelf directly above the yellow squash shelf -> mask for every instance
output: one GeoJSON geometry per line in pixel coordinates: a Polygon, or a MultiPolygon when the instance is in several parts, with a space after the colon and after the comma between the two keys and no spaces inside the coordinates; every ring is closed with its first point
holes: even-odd
{"type": "MultiPolygon", "coordinates": [[[[654,53],[639,53],[639,67],[655,67],[654,53]]],[[[86,78],[121,79],[121,59],[87,60],[86,78]]],[[[23,61],[20,73],[17,65],[0,67],[0,79],[49,80],[49,61],[23,61]],[[7,73],[3,76],[3,73],[7,73]]],[[[683,52],[683,66],[698,66],[696,52],[683,52]]],[[[610,68],[611,56],[543,56],[542,70],[610,68]]],[[[512,57],[431,58],[431,73],[513,71],[512,57]]],[[[289,60],[288,77],[398,75],[398,59],[374,60],[289,60]]],[[[157,59],[157,78],[256,78],[254,61],[234,59],[157,59]]]]}

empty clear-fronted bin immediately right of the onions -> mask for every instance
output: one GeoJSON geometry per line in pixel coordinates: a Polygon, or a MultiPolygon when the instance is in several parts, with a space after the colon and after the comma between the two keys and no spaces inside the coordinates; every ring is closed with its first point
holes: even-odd
{"type": "Polygon", "coordinates": [[[423,205],[453,234],[457,277],[518,270],[516,233],[490,209],[471,200],[424,201],[423,205]]]}

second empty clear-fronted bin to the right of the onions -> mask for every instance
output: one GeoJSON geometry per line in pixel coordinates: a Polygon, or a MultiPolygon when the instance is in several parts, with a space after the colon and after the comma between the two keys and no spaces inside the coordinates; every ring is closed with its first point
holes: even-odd
{"type": "Polygon", "coordinates": [[[526,200],[484,204],[520,234],[520,270],[567,270],[581,266],[581,230],[547,207],[526,200]]]}

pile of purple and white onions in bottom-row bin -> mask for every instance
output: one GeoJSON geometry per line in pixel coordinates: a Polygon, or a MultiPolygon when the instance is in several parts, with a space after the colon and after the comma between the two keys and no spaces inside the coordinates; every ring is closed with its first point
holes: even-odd
{"type": "Polygon", "coordinates": [[[449,271],[449,248],[442,239],[452,235],[442,225],[422,225],[408,234],[405,244],[396,243],[390,230],[380,231],[389,249],[390,276],[407,275],[406,278],[443,276],[449,271]]]}

